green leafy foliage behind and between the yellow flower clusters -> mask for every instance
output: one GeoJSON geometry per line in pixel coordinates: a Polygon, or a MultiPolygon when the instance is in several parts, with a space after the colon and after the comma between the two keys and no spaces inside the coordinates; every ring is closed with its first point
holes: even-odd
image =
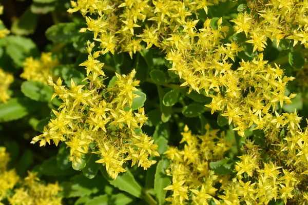
{"type": "MultiPolygon", "coordinates": [[[[228,20],[246,9],[242,2],[226,1],[209,7],[208,15],[200,10],[200,19],[204,22],[207,17],[213,18],[213,28],[217,28],[219,17],[223,18],[223,24],[230,25],[228,20]]],[[[170,185],[171,177],[165,173],[169,160],[163,153],[167,146],[179,146],[180,132],[185,125],[192,133],[205,134],[205,124],[225,131],[227,138],[234,142],[229,156],[209,163],[210,169],[217,175],[233,174],[234,160],[241,153],[239,148],[243,139],[232,130],[233,126],[228,125],[225,117],[218,113],[211,114],[210,109],[204,107],[211,100],[205,93],[188,93],[188,88],[179,86],[183,82],[168,71],[168,61],[155,49],[138,52],[132,59],[127,53],[107,53],[100,57],[105,63],[103,69],[108,77],[105,80],[108,87],[112,86],[114,72],[128,74],[133,68],[137,70],[136,78],[141,83],[136,94],[141,97],[134,99],[131,108],[145,108],[149,119],[142,129],[152,136],[161,154],[161,157],[153,158],[158,161],[155,165],[146,171],[128,166],[126,173],[113,180],[101,164],[95,163],[97,155],[85,154],[81,165],[75,167],[68,159],[69,150],[65,149],[64,144],[59,147],[31,145],[31,138],[43,131],[53,117],[51,109],[57,109],[61,101],[56,98],[50,101],[53,91],[49,86],[18,78],[25,59],[38,57],[43,51],[53,52],[60,60],[60,66],[52,71],[53,74],[64,79],[68,87],[71,78],[75,83],[82,84],[86,71],[78,65],[87,57],[85,43],[92,39],[92,34],[78,32],[86,23],[81,15],[66,12],[70,7],[68,0],[15,0],[3,3],[5,11],[2,19],[11,30],[11,35],[0,39],[0,66],[12,72],[15,80],[10,86],[11,99],[8,104],[0,104],[0,145],[7,148],[11,157],[10,168],[16,168],[18,175],[24,177],[27,170],[32,170],[38,172],[43,181],[58,181],[63,189],[63,204],[165,204],[168,193],[163,188],[170,185]]],[[[243,33],[233,35],[233,39],[240,43],[246,40],[243,33]]],[[[290,47],[287,40],[282,41],[278,48],[271,41],[267,45],[264,58],[272,65],[280,64],[287,76],[296,76],[299,70],[304,69],[303,53],[306,51],[301,47],[290,47]]],[[[250,44],[245,46],[246,50],[239,56],[252,60],[256,52],[252,52],[250,44]]],[[[234,65],[237,66],[240,60],[236,59],[234,65]]],[[[300,116],[308,118],[308,93],[305,87],[300,86],[296,79],[287,89],[298,95],[283,110],[293,112],[296,109],[300,116]]],[[[306,121],[302,120],[301,124],[305,126],[306,121]]],[[[245,137],[254,139],[260,146],[264,141],[262,133],[256,131],[246,131],[245,137]]]]}

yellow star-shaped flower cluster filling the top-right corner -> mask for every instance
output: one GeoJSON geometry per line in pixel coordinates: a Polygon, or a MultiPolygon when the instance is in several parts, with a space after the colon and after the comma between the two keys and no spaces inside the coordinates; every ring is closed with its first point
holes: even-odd
{"type": "Polygon", "coordinates": [[[300,42],[308,48],[307,1],[248,0],[246,9],[231,22],[236,24],[237,33],[245,33],[249,39],[246,42],[254,45],[254,51],[263,51],[267,38],[276,39],[277,46],[287,38],[294,40],[293,46],[300,42]]]}

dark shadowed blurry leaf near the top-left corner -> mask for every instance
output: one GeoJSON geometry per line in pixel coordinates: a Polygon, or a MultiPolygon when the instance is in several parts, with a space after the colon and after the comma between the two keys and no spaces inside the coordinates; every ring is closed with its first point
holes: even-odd
{"type": "Polygon", "coordinates": [[[37,15],[33,14],[30,7],[15,20],[11,27],[11,32],[16,35],[29,35],[34,33],[37,26],[37,15]]]}

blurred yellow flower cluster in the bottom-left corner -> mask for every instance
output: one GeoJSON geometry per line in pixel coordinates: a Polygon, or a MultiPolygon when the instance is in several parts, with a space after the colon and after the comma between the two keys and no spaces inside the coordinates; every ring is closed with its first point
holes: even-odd
{"type": "MultiPolygon", "coordinates": [[[[38,183],[40,179],[36,177],[37,173],[28,172],[24,180],[20,180],[14,169],[7,171],[7,163],[10,161],[9,154],[4,147],[0,147],[0,201],[7,198],[11,205],[61,205],[61,197],[57,197],[61,188],[57,183],[44,185],[38,183]],[[10,196],[8,190],[18,184],[20,188],[14,189],[14,194],[10,196]]],[[[0,202],[0,204],[3,204],[0,202]]]]}

